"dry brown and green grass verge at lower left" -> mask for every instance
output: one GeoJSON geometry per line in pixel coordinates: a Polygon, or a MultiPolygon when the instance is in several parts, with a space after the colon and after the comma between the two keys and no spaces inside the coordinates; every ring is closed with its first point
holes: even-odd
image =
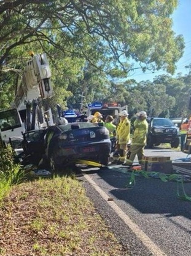
{"type": "Polygon", "coordinates": [[[2,256],[128,255],[71,177],[15,186],[0,208],[2,256]]]}

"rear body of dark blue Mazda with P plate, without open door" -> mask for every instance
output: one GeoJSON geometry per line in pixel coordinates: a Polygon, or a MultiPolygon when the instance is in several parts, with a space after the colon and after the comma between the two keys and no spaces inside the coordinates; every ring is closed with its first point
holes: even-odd
{"type": "Polygon", "coordinates": [[[77,122],[47,129],[45,155],[51,169],[85,159],[108,165],[111,151],[109,132],[96,124],[77,122]]]}

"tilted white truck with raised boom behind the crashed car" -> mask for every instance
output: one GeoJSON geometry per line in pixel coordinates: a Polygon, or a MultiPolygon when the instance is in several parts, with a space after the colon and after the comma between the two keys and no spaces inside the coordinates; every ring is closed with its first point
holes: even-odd
{"type": "Polygon", "coordinates": [[[14,108],[0,112],[0,137],[5,144],[25,131],[53,125],[51,109],[43,106],[43,100],[53,96],[50,77],[46,54],[32,52],[17,84],[14,108]]]}

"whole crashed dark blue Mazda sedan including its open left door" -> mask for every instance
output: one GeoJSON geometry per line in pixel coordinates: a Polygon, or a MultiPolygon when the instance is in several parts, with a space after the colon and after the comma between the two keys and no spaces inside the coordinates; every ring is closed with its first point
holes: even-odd
{"type": "Polygon", "coordinates": [[[51,170],[61,168],[77,159],[95,161],[107,166],[111,141],[106,127],[76,122],[50,126],[46,130],[24,134],[24,151],[32,159],[48,163],[51,170]]]}

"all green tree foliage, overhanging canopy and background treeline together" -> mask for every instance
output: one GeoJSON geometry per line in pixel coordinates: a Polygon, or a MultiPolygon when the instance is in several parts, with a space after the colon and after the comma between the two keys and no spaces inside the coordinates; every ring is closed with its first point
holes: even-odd
{"type": "Polygon", "coordinates": [[[46,52],[50,60],[53,109],[56,103],[62,109],[79,108],[83,95],[84,104],[104,99],[128,104],[132,115],[142,109],[152,115],[165,114],[164,109],[185,114],[187,87],[177,99],[164,79],[139,85],[131,80],[116,82],[135,68],[174,73],[184,48],[182,36],[172,31],[176,7],[177,0],[105,0],[104,4],[101,0],[13,0],[11,7],[2,1],[0,109],[11,106],[28,52],[33,50],[46,52]]]}

